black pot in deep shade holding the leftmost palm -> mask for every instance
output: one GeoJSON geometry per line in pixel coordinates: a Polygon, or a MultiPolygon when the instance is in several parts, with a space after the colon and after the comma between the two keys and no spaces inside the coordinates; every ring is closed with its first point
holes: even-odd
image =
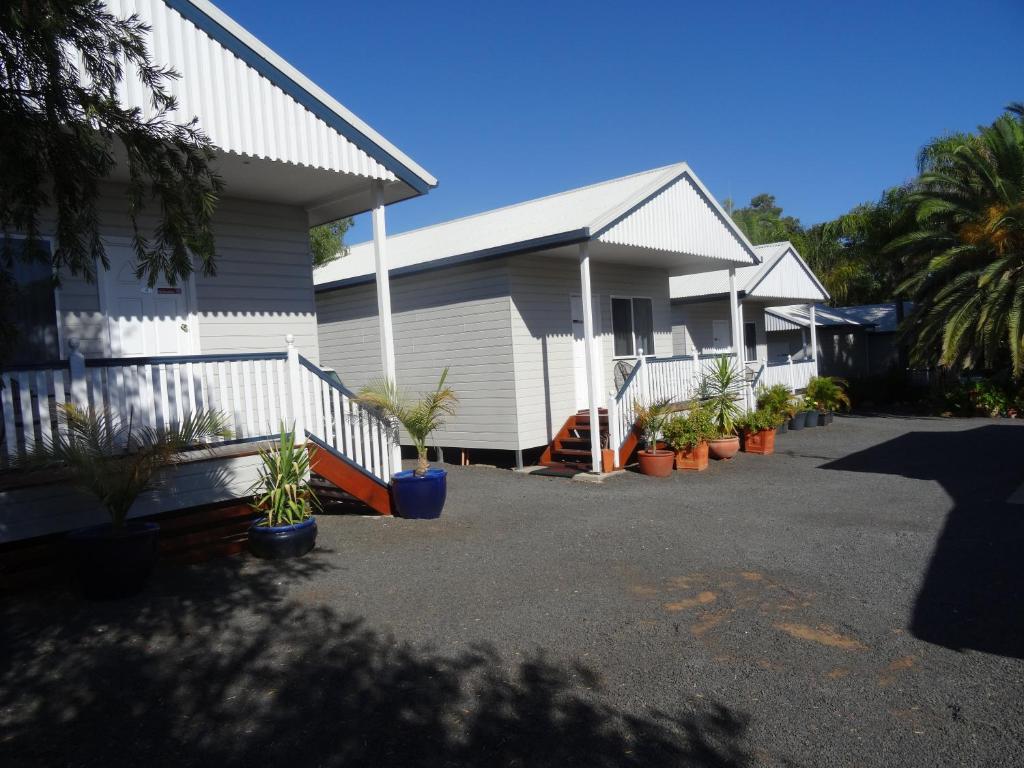
{"type": "Polygon", "coordinates": [[[110,523],[68,534],[72,578],[92,600],[114,600],[138,594],[157,564],[160,526],[155,522],[110,523]]]}

